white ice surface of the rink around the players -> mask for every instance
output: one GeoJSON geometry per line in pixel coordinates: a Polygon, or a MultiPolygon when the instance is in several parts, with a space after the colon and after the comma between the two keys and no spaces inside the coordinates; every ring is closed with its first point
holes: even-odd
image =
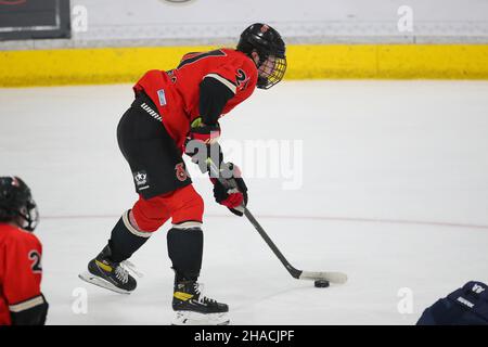
{"type": "MultiPolygon", "coordinates": [[[[133,294],[77,278],[136,198],[115,137],[131,99],[129,85],[0,89],[0,175],[24,178],[40,206],[50,324],[172,317],[169,224],[132,257],[145,274],[133,294]],[[87,314],[73,311],[80,287],[87,314]]],[[[249,179],[249,209],[295,267],[349,275],[329,288],[292,279],[197,177],[206,202],[201,279],[230,305],[232,323],[413,324],[466,281],[488,282],[488,82],[283,82],[257,91],[221,126],[223,143],[303,141],[301,187],[249,179]],[[400,314],[403,287],[413,311],[400,314]]],[[[244,174],[259,166],[230,152],[244,174]]]]}

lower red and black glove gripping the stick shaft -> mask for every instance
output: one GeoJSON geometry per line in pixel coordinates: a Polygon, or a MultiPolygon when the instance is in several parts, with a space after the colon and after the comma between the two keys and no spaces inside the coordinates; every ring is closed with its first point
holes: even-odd
{"type": "Polygon", "coordinates": [[[210,178],[214,183],[214,197],[231,213],[243,216],[241,206],[247,206],[247,187],[241,177],[241,170],[232,163],[222,164],[221,178],[210,178]]]}

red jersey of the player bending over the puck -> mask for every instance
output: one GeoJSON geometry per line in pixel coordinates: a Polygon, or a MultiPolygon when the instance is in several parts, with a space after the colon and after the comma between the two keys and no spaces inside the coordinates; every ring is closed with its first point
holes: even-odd
{"type": "Polygon", "coordinates": [[[172,70],[149,70],[133,87],[143,90],[157,106],[165,128],[180,147],[190,124],[200,116],[200,83],[205,77],[219,80],[234,94],[222,110],[229,113],[255,90],[258,73],[254,62],[232,49],[188,53],[172,70]]]}

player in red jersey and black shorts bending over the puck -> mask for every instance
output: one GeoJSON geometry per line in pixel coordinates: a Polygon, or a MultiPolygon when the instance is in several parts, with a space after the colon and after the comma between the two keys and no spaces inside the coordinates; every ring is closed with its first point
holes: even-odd
{"type": "Polygon", "coordinates": [[[136,99],[117,128],[139,200],[123,214],[108,244],[80,274],[82,280],[118,293],[132,292],[137,283],[125,260],[171,218],[167,242],[175,270],[174,323],[229,322],[228,306],[204,296],[197,282],[204,203],[182,155],[210,174],[216,201],[242,216],[247,188],[237,167],[223,162],[219,118],[256,87],[278,83],[285,69],[284,41],[277,30],[258,23],[242,33],[235,50],[188,53],[178,67],[149,70],[141,77],[133,87],[136,99]]]}

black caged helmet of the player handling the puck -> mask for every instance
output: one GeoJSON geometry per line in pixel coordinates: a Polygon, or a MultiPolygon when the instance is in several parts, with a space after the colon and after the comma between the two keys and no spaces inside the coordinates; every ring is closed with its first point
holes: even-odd
{"type": "Polygon", "coordinates": [[[259,70],[257,87],[269,89],[280,80],[286,70],[285,43],[280,34],[267,24],[256,23],[247,27],[237,43],[237,51],[248,56],[259,55],[256,67],[259,70]]]}

